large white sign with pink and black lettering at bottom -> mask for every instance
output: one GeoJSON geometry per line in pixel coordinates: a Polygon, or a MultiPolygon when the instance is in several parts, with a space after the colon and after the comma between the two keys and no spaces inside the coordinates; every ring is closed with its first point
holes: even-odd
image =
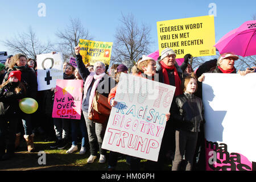
{"type": "Polygon", "coordinates": [[[204,75],[207,170],[256,170],[256,73],[204,75]]]}

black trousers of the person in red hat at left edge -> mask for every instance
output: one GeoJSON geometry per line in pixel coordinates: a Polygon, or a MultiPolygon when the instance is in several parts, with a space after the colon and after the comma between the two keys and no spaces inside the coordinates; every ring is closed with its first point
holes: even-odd
{"type": "Polygon", "coordinates": [[[19,118],[10,116],[0,117],[0,155],[5,154],[5,149],[7,149],[7,154],[14,153],[14,143],[18,121],[19,118]]]}

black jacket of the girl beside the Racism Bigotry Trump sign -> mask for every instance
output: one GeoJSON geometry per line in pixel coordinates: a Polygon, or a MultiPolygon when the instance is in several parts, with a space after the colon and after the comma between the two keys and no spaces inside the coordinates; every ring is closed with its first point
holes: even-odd
{"type": "Polygon", "coordinates": [[[194,94],[183,93],[176,98],[171,112],[177,129],[199,132],[200,123],[204,123],[203,102],[194,94]]]}

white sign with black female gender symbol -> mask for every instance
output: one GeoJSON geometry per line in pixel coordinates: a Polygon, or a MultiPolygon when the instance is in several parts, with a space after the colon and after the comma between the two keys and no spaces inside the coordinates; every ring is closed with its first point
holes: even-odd
{"type": "Polygon", "coordinates": [[[57,79],[63,79],[63,59],[61,53],[36,55],[38,67],[38,91],[56,86],[57,79]]]}

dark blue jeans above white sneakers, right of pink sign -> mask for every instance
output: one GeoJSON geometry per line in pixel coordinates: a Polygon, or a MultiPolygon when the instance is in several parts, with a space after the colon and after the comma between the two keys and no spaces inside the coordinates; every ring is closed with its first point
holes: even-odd
{"type": "MultiPolygon", "coordinates": [[[[81,137],[82,137],[82,143],[81,146],[85,147],[87,144],[89,144],[88,140],[88,133],[86,129],[85,119],[84,115],[81,113],[81,119],[72,119],[71,121],[71,135],[72,135],[72,145],[77,145],[77,137],[79,134],[79,129],[81,131],[81,137]]],[[[89,148],[89,146],[86,146],[86,148],[89,148]]]]}

